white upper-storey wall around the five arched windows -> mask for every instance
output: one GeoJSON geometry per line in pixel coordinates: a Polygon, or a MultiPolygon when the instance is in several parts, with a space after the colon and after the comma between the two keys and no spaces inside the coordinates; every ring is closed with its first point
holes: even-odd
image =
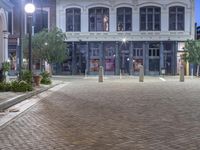
{"type": "Polygon", "coordinates": [[[136,41],[185,41],[194,38],[194,0],[57,0],[57,26],[65,31],[65,9],[81,8],[81,32],[67,32],[67,41],[115,41],[122,36],[136,41]],[[161,7],[161,31],[140,31],[139,10],[143,6],[161,7]],[[132,32],[116,32],[116,9],[128,6],[132,8],[132,32]],[[169,7],[185,7],[185,31],[169,31],[169,7]],[[88,32],[88,9],[107,7],[110,12],[109,32],[88,32]]]}

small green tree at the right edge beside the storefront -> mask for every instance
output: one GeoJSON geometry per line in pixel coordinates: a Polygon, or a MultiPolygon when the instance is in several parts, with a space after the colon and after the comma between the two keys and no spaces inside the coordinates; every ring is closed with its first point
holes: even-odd
{"type": "Polygon", "coordinates": [[[200,41],[199,40],[188,40],[185,42],[185,53],[184,60],[189,63],[197,65],[197,76],[199,75],[200,66],[200,41]]]}

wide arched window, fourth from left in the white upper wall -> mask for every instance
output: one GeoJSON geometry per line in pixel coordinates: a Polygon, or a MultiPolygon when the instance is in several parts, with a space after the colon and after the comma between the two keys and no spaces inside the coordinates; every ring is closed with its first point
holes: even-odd
{"type": "Polygon", "coordinates": [[[161,27],[160,7],[147,6],[140,8],[140,30],[160,31],[161,27]]]}

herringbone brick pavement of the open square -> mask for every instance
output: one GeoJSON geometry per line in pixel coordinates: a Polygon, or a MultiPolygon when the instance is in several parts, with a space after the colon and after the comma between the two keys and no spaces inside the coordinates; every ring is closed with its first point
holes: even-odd
{"type": "Polygon", "coordinates": [[[200,80],[76,80],[0,130],[1,150],[199,150],[200,80]]]}

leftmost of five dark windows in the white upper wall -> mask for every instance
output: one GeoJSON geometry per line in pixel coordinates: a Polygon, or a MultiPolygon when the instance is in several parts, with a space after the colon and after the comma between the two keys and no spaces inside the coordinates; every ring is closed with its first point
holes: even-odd
{"type": "Polygon", "coordinates": [[[81,9],[66,9],[66,32],[81,31],[81,9]]]}

